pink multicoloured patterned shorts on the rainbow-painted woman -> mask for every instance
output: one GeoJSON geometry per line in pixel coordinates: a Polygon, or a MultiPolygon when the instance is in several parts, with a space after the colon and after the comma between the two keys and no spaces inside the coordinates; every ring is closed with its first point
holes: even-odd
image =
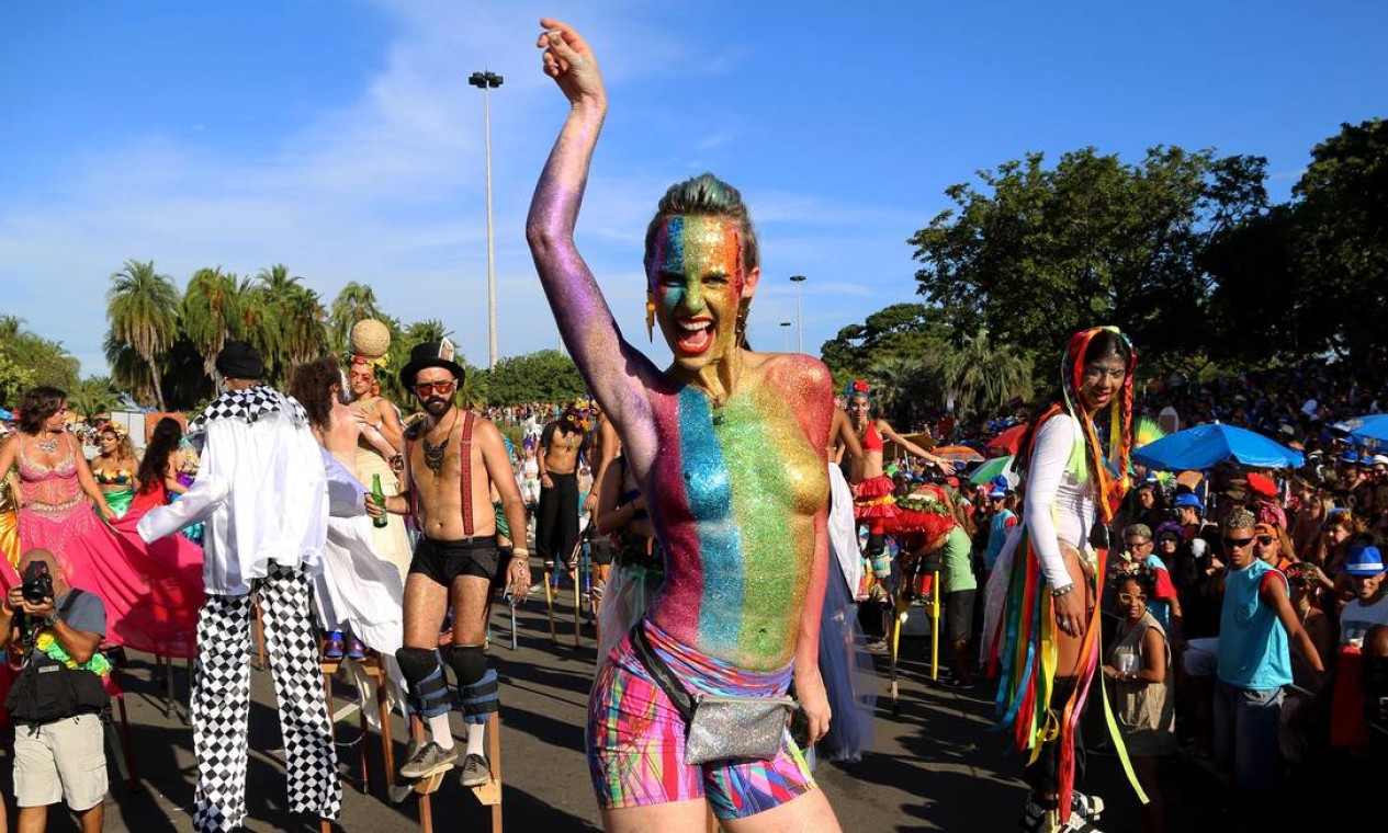
{"type": "MultiPolygon", "coordinates": [[[[781,696],[790,668],[740,671],[697,654],[644,622],[651,647],[693,692],[781,696]]],[[[770,761],[684,764],[684,718],[623,638],[598,672],[589,697],[589,771],[602,809],[706,798],[719,819],[738,819],[815,789],[790,732],[770,761]]]]}

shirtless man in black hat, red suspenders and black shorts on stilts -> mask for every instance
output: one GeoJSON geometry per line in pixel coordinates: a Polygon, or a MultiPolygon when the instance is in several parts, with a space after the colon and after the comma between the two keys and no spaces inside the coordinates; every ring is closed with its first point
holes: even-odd
{"type": "MultiPolygon", "coordinates": [[[[491,585],[501,567],[491,491],[500,496],[512,529],[525,529],[525,507],[501,432],[491,421],[454,405],[464,370],[439,352],[437,341],[421,344],[400,371],[403,385],[423,406],[425,419],[404,438],[407,488],[403,495],[386,498],[387,511],[412,511],[423,532],[405,581],[405,645],[396,658],[409,685],[411,707],[429,724],[430,740],[400,768],[400,775],[426,778],[458,760],[448,728],[448,682],[436,650],[439,626],[451,602],[448,664],[458,678],[468,725],[462,786],[475,787],[491,779],[483,740],[487,718],[497,711],[497,672],[487,668],[483,651],[491,585]]],[[[380,514],[369,498],[366,503],[369,514],[380,514]]],[[[530,553],[523,545],[511,550],[504,567],[507,589],[516,597],[530,588],[530,553]]]]}

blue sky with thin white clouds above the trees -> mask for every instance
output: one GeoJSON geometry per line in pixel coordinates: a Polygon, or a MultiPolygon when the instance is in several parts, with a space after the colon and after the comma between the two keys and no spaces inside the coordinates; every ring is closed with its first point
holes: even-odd
{"type": "MultiPolygon", "coordinates": [[[[491,97],[501,355],[558,337],[525,245],[565,104],[536,21],[594,44],[611,112],[577,240],[644,340],[641,234],[679,179],[737,184],[762,236],[750,337],[811,352],[915,298],[905,240],[942,190],[1027,151],[1269,158],[1285,198],[1312,146],[1385,115],[1388,4],[264,3],[0,11],[0,312],[104,371],[126,259],[283,262],[322,292],[371,283],[484,363],[482,93],[491,97]]],[[[658,360],[668,356],[655,345],[658,360]]]]}

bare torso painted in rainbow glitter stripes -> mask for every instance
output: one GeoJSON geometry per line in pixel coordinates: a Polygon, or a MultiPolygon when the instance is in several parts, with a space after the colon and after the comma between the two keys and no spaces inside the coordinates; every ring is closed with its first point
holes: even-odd
{"type": "Polygon", "coordinates": [[[823,453],[773,384],[719,409],[695,388],[652,391],[651,407],[659,453],[644,491],[666,581],[647,617],[708,657],[786,668],[829,499],[823,453]]]}

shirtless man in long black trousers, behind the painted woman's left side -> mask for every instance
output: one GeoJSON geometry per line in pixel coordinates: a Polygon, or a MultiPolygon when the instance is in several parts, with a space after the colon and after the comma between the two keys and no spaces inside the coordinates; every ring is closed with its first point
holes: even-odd
{"type": "Polygon", "coordinates": [[[589,450],[583,414],[572,405],[540,434],[540,516],[534,549],[545,570],[568,560],[579,542],[579,455],[589,450]]]}

